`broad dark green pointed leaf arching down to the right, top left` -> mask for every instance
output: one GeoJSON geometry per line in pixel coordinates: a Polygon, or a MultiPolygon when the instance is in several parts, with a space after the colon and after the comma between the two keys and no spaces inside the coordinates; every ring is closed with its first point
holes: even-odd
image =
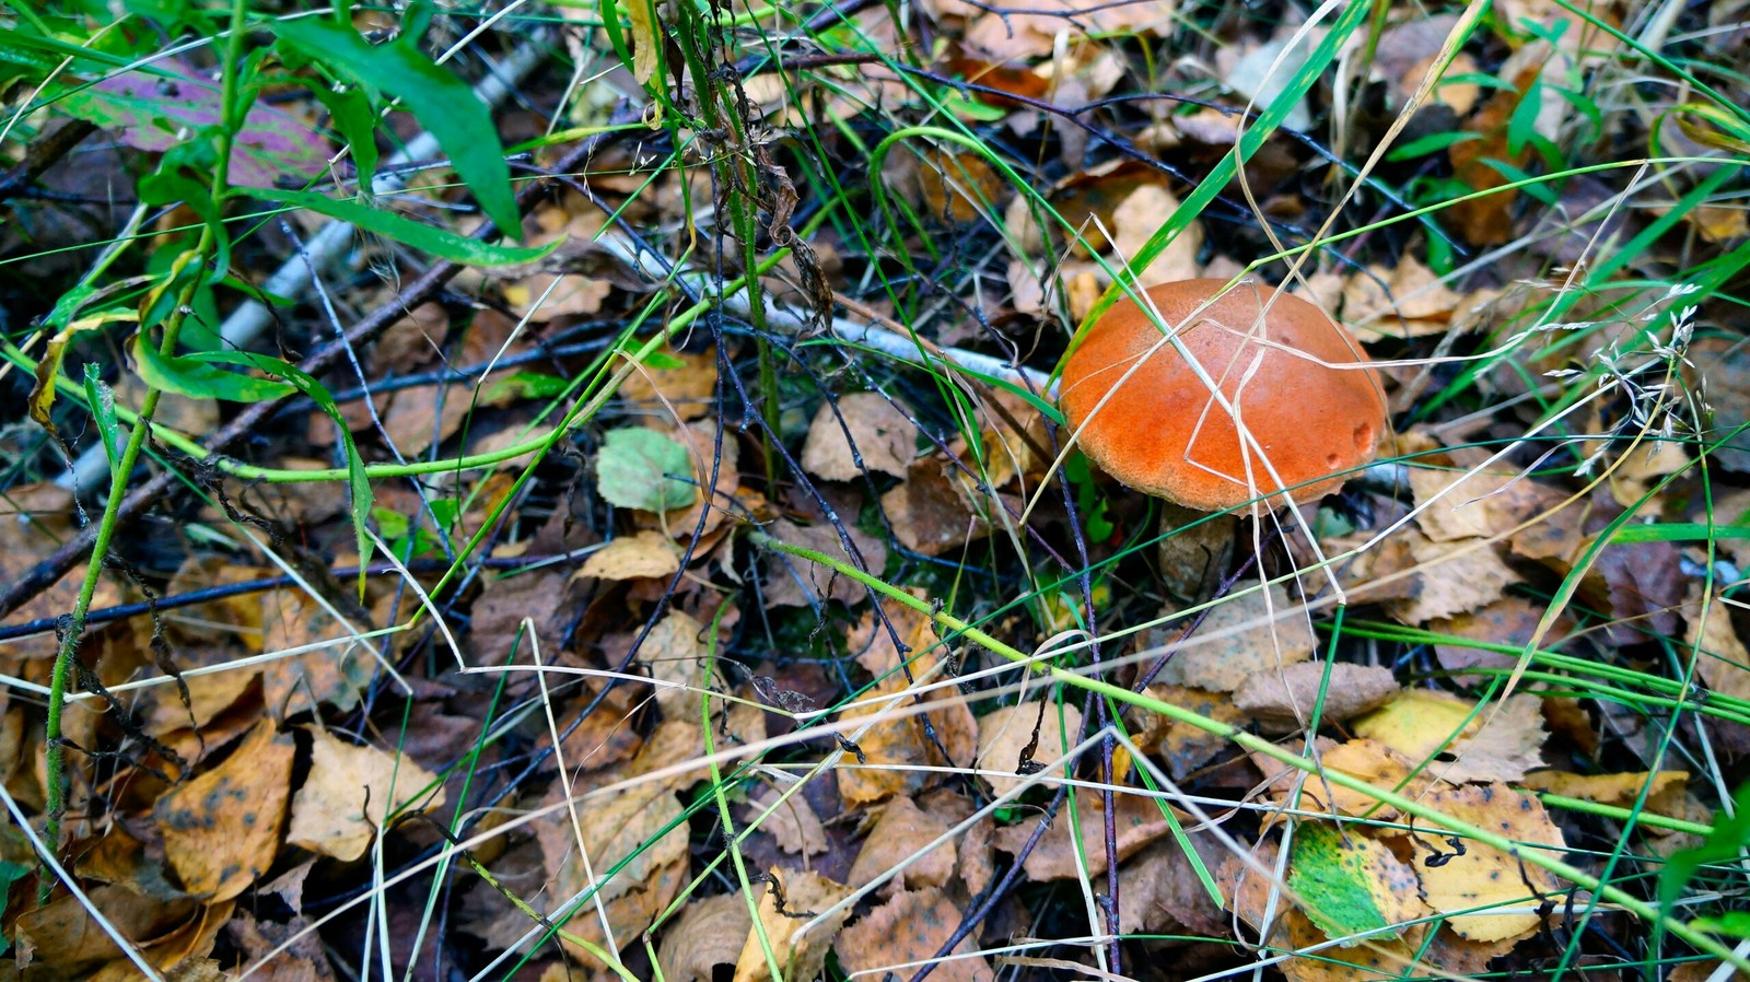
{"type": "MultiPolygon", "coordinates": [[[[474,89],[416,47],[411,33],[373,46],[352,28],[329,18],[276,21],[273,33],[308,58],[334,68],[360,86],[382,89],[401,100],[450,158],[462,184],[474,193],[486,215],[511,238],[522,238],[522,215],[511,193],[511,168],[504,145],[474,89]]],[[[387,235],[387,233],[385,233],[387,235]]]]}

